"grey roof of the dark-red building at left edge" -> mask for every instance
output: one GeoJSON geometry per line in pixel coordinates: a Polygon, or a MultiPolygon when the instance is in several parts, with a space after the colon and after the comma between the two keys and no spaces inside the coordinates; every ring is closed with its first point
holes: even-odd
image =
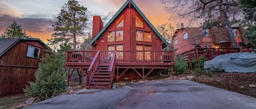
{"type": "Polygon", "coordinates": [[[40,39],[21,39],[21,38],[0,38],[0,57],[4,55],[9,49],[11,49],[19,41],[38,41],[43,44],[47,49],[50,49],[43,41],[40,39]]]}

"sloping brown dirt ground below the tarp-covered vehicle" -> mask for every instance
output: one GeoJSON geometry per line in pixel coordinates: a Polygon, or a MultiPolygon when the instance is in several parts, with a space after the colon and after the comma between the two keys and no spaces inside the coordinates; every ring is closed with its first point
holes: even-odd
{"type": "Polygon", "coordinates": [[[193,81],[202,84],[224,88],[229,91],[249,95],[256,98],[256,73],[219,73],[212,72],[212,77],[199,75],[193,81]],[[253,85],[252,85],[253,84],[253,85]],[[251,85],[251,87],[249,87],[251,85]]]}

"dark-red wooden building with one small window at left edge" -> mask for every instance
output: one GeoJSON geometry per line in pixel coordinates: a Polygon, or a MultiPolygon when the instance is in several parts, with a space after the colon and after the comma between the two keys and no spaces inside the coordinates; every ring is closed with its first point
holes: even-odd
{"type": "Polygon", "coordinates": [[[35,81],[46,49],[50,48],[40,39],[0,38],[0,96],[23,92],[35,81]]]}

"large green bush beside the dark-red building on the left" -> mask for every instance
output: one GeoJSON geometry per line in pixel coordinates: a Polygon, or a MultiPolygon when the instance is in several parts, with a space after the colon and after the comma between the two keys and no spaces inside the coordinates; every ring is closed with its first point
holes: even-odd
{"type": "Polygon", "coordinates": [[[35,72],[35,82],[29,82],[24,90],[28,97],[44,100],[64,92],[66,85],[65,58],[60,54],[47,54],[35,72]]]}

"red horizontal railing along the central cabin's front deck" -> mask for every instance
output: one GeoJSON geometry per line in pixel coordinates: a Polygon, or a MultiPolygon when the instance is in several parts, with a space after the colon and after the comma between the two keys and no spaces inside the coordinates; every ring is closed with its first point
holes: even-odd
{"type": "MultiPolygon", "coordinates": [[[[97,50],[68,51],[66,62],[92,62],[97,50]]],[[[100,50],[99,60],[110,62],[114,51],[100,50]]],[[[174,62],[173,51],[117,50],[116,62],[174,62]]]]}

